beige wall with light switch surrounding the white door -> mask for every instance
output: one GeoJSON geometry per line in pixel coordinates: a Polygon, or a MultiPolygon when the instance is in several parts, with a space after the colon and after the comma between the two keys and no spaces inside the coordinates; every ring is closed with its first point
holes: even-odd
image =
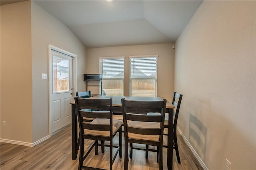
{"type": "Polygon", "coordinates": [[[48,135],[48,44],[77,55],[78,91],[84,91],[86,49],[63,23],[32,2],[33,142],[48,135]]]}

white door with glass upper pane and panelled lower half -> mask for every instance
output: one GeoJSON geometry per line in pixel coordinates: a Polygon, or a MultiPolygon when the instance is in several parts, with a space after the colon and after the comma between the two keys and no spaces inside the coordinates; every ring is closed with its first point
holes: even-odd
{"type": "Polygon", "coordinates": [[[51,132],[71,123],[73,100],[73,57],[50,51],[50,122],[51,132]]]}

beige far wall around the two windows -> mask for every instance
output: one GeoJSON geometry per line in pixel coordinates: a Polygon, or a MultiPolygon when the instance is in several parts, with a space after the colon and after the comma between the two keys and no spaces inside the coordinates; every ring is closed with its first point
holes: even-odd
{"type": "Polygon", "coordinates": [[[172,49],[172,44],[131,45],[87,49],[86,73],[99,73],[99,57],[125,56],[124,96],[129,96],[129,56],[133,55],[158,55],[157,96],[172,100],[174,86],[174,49],[172,49]]]}

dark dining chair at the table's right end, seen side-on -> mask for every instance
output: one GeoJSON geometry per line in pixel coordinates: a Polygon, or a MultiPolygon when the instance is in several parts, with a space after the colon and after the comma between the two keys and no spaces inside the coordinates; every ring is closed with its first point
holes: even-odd
{"type": "MultiPolygon", "coordinates": [[[[178,163],[180,164],[180,154],[179,154],[179,149],[178,149],[178,141],[177,141],[177,122],[178,122],[178,115],[179,115],[179,111],[180,111],[180,104],[181,104],[181,100],[182,100],[182,94],[178,94],[177,92],[174,92],[173,94],[173,98],[172,98],[172,105],[175,106],[174,109],[174,122],[173,122],[173,149],[175,149],[176,152],[176,156],[177,156],[177,160],[178,163]]],[[[154,113],[154,112],[150,112],[147,115],[156,115],[159,113],[154,113]]],[[[168,113],[166,113],[165,115],[165,121],[164,121],[164,128],[168,129],[168,113]]],[[[168,136],[168,133],[164,133],[164,135],[168,136]]],[[[168,147],[166,145],[164,145],[163,147],[168,147]]]]}

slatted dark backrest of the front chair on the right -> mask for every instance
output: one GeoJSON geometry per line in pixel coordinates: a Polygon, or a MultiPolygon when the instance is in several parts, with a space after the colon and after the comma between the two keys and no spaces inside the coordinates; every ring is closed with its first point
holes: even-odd
{"type": "Polygon", "coordinates": [[[166,100],[162,101],[132,101],[122,98],[122,114],[124,119],[124,135],[134,133],[139,135],[159,135],[162,141],[164,129],[164,116],[166,112],[166,100]],[[148,112],[158,112],[157,115],[146,115],[148,112]],[[128,126],[129,121],[158,122],[159,128],[132,127],[128,126]]]}

